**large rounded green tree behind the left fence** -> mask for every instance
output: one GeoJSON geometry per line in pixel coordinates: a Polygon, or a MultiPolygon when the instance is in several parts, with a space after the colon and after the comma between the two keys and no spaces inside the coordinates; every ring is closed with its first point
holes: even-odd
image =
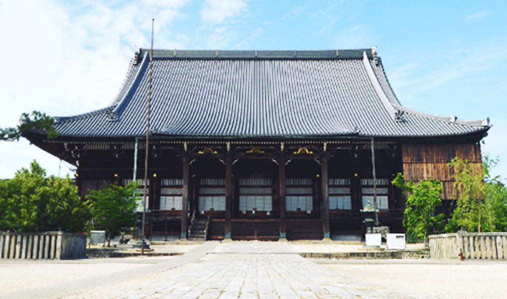
{"type": "Polygon", "coordinates": [[[46,177],[33,161],[11,180],[0,181],[0,230],[83,232],[91,214],[68,178],[46,177]]]}

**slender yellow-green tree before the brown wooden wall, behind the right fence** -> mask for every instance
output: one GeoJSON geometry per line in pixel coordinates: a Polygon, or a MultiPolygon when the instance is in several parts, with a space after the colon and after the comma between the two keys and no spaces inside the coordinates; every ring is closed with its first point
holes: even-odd
{"type": "Polygon", "coordinates": [[[454,169],[454,189],[457,200],[452,217],[446,225],[447,232],[492,232],[495,230],[495,213],[492,200],[493,189],[485,184],[488,166],[475,168],[469,160],[455,157],[449,164],[454,169]],[[489,193],[489,194],[488,194],[489,193]]]}

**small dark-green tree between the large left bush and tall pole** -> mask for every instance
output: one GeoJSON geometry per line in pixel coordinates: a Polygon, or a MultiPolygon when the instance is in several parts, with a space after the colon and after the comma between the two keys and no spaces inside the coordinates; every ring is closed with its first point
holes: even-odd
{"type": "Polygon", "coordinates": [[[110,246],[112,238],[135,226],[137,187],[137,183],[125,187],[104,184],[101,190],[90,190],[86,196],[94,219],[93,228],[107,232],[107,246],[110,246]]]}

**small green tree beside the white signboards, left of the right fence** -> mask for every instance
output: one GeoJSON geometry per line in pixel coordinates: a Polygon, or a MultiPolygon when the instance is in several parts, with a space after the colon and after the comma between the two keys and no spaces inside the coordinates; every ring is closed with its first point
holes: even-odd
{"type": "Polygon", "coordinates": [[[432,179],[417,184],[413,181],[406,182],[399,173],[392,184],[408,194],[403,214],[408,241],[424,241],[427,244],[430,232],[433,228],[440,229],[444,220],[444,214],[434,215],[436,207],[442,205],[442,183],[432,179]]]}

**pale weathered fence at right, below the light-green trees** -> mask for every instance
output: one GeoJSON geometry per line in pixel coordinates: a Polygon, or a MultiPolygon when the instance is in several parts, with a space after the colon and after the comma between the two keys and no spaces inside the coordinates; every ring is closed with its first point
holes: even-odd
{"type": "Polygon", "coordinates": [[[505,260],[507,233],[456,233],[429,236],[433,259],[505,260]]]}

